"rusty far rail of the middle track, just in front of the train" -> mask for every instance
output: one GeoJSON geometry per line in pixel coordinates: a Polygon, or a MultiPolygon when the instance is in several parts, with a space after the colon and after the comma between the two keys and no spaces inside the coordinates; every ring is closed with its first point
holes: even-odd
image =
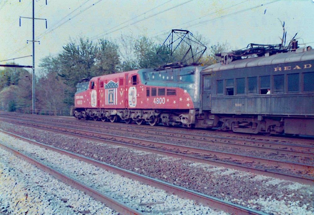
{"type": "MultiPolygon", "coordinates": [[[[43,120],[43,119],[39,119],[43,120]]],[[[50,120],[57,123],[62,124],[73,124],[70,122],[65,122],[63,120],[53,119],[50,120]]],[[[84,125],[84,123],[76,122],[76,125],[84,125]]],[[[273,143],[267,141],[260,141],[260,140],[247,140],[247,139],[235,139],[235,138],[228,138],[228,137],[216,137],[216,136],[203,136],[198,134],[186,134],[186,133],[178,133],[178,132],[171,132],[171,131],[156,131],[152,129],[143,129],[143,128],[127,128],[127,127],[120,127],[114,126],[113,127],[100,127],[98,123],[89,123],[90,127],[104,129],[104,130],[112,130],[112,131],[132,131],[136,132],[136,134],[153,134],[155,137],[163,137],[163,138],[171,138],[175,140],[182,140],[186,139],[192,143],[197,144],[208,144],[208,145],[218,145],[224,147],[233,147],[238,149],[249,149],[249,150],[257,150],[262,152],[270,152],[276,153],[280,155],[292,155],[292,156],[300,156],[300,157],[314,157],[314,147],[305,146],[305,145],[293,145],[293,144],[283,144],[283,143],[273,143]],[[116,129],[118,127],[119,129],[116,129]],[[152,131],[152,132],[149,132],[152,131]],[[166,133],[166,134],[161,134],[166,133]],[[195,138],[196,137],[196,138],[195,138]],[[267,145],[267,146],[266,146],[267,145]],[[275,145],[275,147],[273,147],[275,145]],[[277,146],[277,147],[276,147],[277,146]],[[281,148],[279,148],[281,147],[281,148]],[[289,149],[288,149],[289,148],[289,149]]]]}

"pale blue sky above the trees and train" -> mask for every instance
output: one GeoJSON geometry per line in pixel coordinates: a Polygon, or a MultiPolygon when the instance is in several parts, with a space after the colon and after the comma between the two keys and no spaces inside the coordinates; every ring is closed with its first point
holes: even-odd
{"type": "MultiPolygon", "coordinates": [[[[32,66],[32,0],[0,0],[0,64],[32,66]],[[5,61],[3,61],[5,60],[5,61]]],[[[164,40],[171,29],[189,30],[233,49],[250,43],[287,41],[314,47],[314,0],[35,0],[35,72],[40,60],[57,56],[70,38],[118,39],[121,34],[164,40]],[[279,21],[280,20],[280,21],[279,21]]],[[[204,41],[205,41],[204,40],[204,41]]],[[[201,41],[202,42],[202,41],[201,41]]],[[[209,48],[209,47],[208,47],[209,48]]],[[[0,67],[3,69],[4,67],[0,67]]],[[[28,69],[31,71],[31,69],[28,69]]]]}

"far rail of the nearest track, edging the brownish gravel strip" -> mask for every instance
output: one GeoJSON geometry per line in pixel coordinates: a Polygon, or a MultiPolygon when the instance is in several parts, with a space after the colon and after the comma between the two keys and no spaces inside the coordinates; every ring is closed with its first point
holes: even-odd
{"type": "MultiPolygon", "coordinates": [[[[11,135],[11,136],[13,136],[15,138],[27,141],[27,142],[29,142],[31,144],[35,144],[35,145],[40,146],[42,148],[48,148],[49,150],[58,152],[58,153],[63,154],[63,155],[67,155],[67,156],[69,156],[71,158],[74,158],[74,159],[77,159],[77,160],[89,163],[91,165],[95,165],[97,167],[100,167],[100,168],[105,169],[107,171],[116,173],[116,174],[121,175],[123,177],[129,177],[129,178],[131,178],[133,180],[140,181],[140,182],[145,183],[145,184],[147,184],[149,186],[154,186],[154,187],[157,187],[157,188],[160,188],[160,189],[164,189],[164,190],[166,190],[168,192],[173,192],[173,193],[175,193],[175,195],[178,195],[178,196],[183,197],[183,198],[188,198],[188,199],[191,199],[191,200],[194,200],[194,201],[202,202],[203,204],[208,205],[209,207],[213,207],[213,208],[218,209],[218,210],[223,210],[223,211],[228,212],[228,213],[235,213],[235,214],[241,214],[241,215],[242,214],[243,215],[246,215],[246,214],[247,215],[251,215],[251,214],[252,215],[268,215],[267,213],[264,213],[264,212],[260,212],[260,211],[257,211],[257,210],[251,209],[251,208],[243,207],[241,205],[237,205],[237,204],[234,204],[232,202],[227,202],[225,200],[221,200],[221,199],[218,199],[216,197],[211,197],[211,196],[208,196],[208,195],[196,192],[196,191],[189,190],[189,189],[184,188],[184,187],[172,185],[170,183],[167,183],[167,182],[164,182],[164,181],[160,181],[158,179],[154,179],[154,178],[151,178],[151,177],[148,177],[148,176],[143,176],[141,174],[138,174],[138,173],[135,173],[135,172],[132,172],[132,171],[129,171],[129,170],[125,170],[125,169],[122,169],[122,168],[119,168],[119,167],[116,167],[116,166],[113,166],[113,165],[110,165],[110,164],[106,164],[106,163],[103,163],[103,162],[99,162],[97,160],[94,160],[94,159],[91,159],[91,158],[87,158],[87,157],[82,156],[82,155],[74,154],[72,152],[68,152],[68,151],[63,150],[63,149],[58,149],[56,147],[53,147],[53,146],[50,146],[50,145],[47,145],[47,144],[39,143],[37,141],[31,140],[31,139],[28,139],[28,138],[24,138],[22,136],[19,136],[19,135],[10,133],[10,132],[6,132],[6,131],[3,131],[3,130],[1,130],[1,131],[3,133],[9,134],[9,135],[11,135]]],[[[44,168],[48,169],[48,171],[51,171],[51,169],[52,169],[51,167],[48,167],[48,166],[46,166],[44,164],[41,164],[39,161],[34,160],[34,159],[30,158],[29,156],[24,155],[24,154],[22,154],[22,153],[20,153],[20,152],[18,152],[16,150],[6,146],[6,145],[3,145],[3,144],[0,143],[0,147],[6,148],[6,149],[8,149],[10,151],[13,151],[14,154],[16,154],[16,155],[18,155],[20,157],[23,157],[23,158],[25,157],[27,160],[31,160],[31,162],[34,162],[36,166],[37,166],[37,163],[39,163],[39,166],[44,166],[44,168]]],[[[52,171],[53,171],[53,169],[52,169],[52,171]]],[[[54,170],[54,171],[58,172],[58,174],[60,173],[57,170],[54,170]]],[[[54,174],[56,174],[56,173],[54,173],[54,174]]],[[[70,178],[70,177],[68,177],[68,178],[70,178]]],[[[74,180],[74,179],[70,178],[70,180],[71,180],[71,183],[72,183],[72,180],[74,180]]],[[[78,183],[81,184],[80,182],[78,182],[78,183]]],[[[79,185],[79,187],[80,186],[82,186],[82,185],[79,185]]],[[[88,187],[87,191],[89,191],[89,190],[93,190],[93,189],[88,187]]],[[[84,192],[86,192],[86,191],[84,190],[84,192]]],[[[101,193],[97,194],[96,197],[98,197],[100,194],[101,193]]],[[[102,195],[105,195],[105,194],[102,194],[102,195]]],[[[94,196],[92,196],[92,197],[94,197],[94,196]]],[[[94,198],[96,198],[96,197],[94,197],[94,198]]],[[[111,197],[109,197],[109,198],[111,198],[111,197]]],[[[114,200],[114,201],[116,201],[116,200],[114,200]]],[[[107,203],[105,203],[105,204],[107,204],[107,203]]],[[[118,210],[116,210],[116,211],[118,211],[118,210]]],[[[142,214],[142,213],[134,213],[134,214],[142,214]]]]}

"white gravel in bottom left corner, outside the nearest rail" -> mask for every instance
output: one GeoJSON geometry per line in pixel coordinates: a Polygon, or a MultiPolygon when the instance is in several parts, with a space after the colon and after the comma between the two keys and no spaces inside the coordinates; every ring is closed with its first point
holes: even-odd
{"type": "Polygon", "coordinates": [[[2,215],[118,215],[101,202],[3,149],[0,149],[0,158],[2,215]]]}

